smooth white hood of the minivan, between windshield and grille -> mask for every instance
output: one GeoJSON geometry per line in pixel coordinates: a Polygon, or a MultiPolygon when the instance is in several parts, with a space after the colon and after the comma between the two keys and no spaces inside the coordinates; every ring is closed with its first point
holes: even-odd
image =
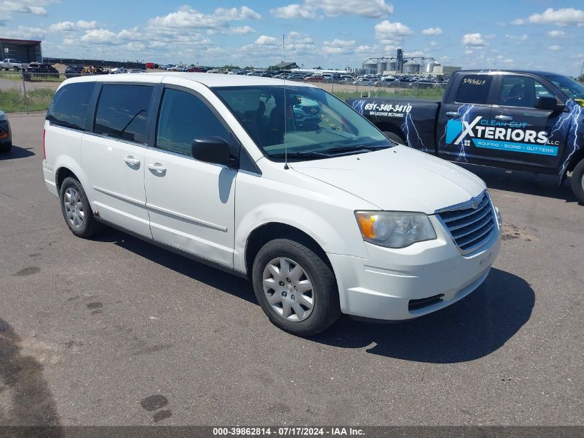
{"type": "Polygon", "coordinates": [[[350,192],[382,210],[433,214],[480,194],[486,187],[471,172],[407,146],[290,163],[314,179],[350,192]]]}

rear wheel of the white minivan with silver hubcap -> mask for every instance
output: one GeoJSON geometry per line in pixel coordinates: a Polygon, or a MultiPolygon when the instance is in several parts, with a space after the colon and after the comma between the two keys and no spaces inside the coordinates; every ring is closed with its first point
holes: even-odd
{"type": "Polygon", "coordinates": [[[77,179],[68,176],[59,191],[61,212],[69,230],[77,237],[91,237],[97,232],[99,223],[93,217],[89,200],[77,179]]]}

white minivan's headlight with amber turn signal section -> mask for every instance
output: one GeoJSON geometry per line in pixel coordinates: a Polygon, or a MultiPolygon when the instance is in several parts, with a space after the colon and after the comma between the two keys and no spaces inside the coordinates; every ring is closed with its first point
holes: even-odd
{"type": "Polygon", "coordinates": [[[355,212],[363,238],[388,248],[405,248],[417,241],[436,239],[428,215],[410,212],[355,212]]]}

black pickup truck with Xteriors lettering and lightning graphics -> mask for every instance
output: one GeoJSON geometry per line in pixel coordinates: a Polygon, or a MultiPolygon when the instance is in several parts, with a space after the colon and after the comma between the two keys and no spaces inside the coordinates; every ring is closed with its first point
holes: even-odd
{"type": "Polygon", "coordinates": [[[347,103],[388,138],[463,163],[572,176],[584,203],[584,86],[543,71],[458,71],[442,102],[347,103]]]}

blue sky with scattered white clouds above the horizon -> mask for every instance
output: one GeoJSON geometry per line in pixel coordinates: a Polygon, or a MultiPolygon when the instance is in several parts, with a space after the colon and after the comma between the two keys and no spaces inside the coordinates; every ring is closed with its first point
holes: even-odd
{"type": "Polygon", "coordinates": [[[584,2],[0,0],[0,37],[42,39],[50,57],[307,68],[431,56],[463,68],[577,75],[584,2]]]}

